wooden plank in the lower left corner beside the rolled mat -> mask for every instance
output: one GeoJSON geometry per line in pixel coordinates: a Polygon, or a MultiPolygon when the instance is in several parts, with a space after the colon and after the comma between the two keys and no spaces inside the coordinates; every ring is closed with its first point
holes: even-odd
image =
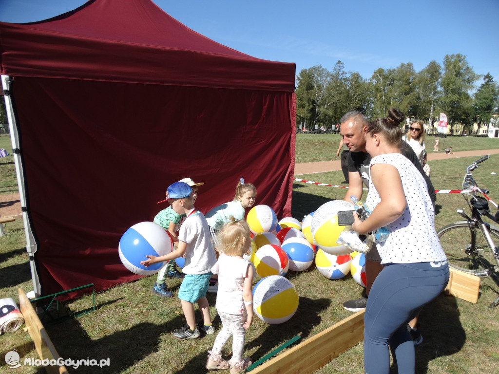
{"type": "MultiPolygon", "coordinates": [[[[38,356],[41,360],[59,359],[59,355],[55,350],[52,341],[36,315],[31,302],[26,297],[24,290],[19,288],[18,292],[19,307],[21,309],[22,317],[24,318],[24,323],[26,324],[26,330],[34,343],[38,356]]],[[[44,368],[49,374],[68,374],[65,366],[45,366],[44,368]]]]}

